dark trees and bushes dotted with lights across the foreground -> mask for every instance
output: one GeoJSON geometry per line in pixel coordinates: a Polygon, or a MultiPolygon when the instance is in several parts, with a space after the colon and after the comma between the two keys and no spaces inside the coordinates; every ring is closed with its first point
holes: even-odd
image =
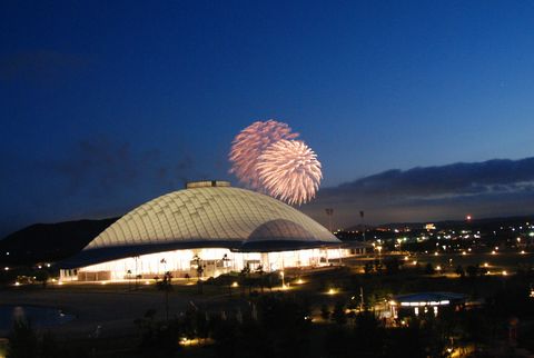
{"type": "MultiPolygon", "coordinates": [[[[191,304],[162,316],[147,310],[132,322],[137,334],[129,337],[96,331],[65,341],[19,322],[9,337],[8,357],[523,357],[524,349],[534,350],[532,269],[507,277],[468,269],[445,277],[426,266],[383,265],[364,275],[348,268],[324,271],[287,291],[271,290],[269,281],[280,282],[258,272],[220,277],[189,292],[220,295],[217,307],[191,304]],[[234,279],[239,288],[229,291],[234,279]],[[330,288],[335,295],[327,294],[330,288]],[[397,320],[379,317],[380,305],[393,294],[414,291],[464,292],[479,305],[443,309],[437,317],[431,311],[397,320]]],[[[160,312],[178,295],[168,285],[152,288],[165,297],[160,312]]]]}

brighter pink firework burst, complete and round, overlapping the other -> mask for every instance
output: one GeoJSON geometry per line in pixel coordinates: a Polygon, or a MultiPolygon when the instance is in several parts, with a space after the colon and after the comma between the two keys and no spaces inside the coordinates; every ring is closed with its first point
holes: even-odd
{"type": "Polygon", "coordinates": [[[312,200],[323,173],[317,155],[300,140],[279,140],[269,146],[257,165],[261,187],[289,205],[312,200]]]}

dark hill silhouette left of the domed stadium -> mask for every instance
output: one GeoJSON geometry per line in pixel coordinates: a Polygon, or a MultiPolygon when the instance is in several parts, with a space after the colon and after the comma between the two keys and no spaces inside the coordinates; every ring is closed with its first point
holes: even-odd
{"type": "Polygon", "coordinates": [[[53,262],[80,251],[118,218],[36,223],[0,240],[0,262],[53,262]],[[9,252],[9,255],[7,255],[9,252]]]}

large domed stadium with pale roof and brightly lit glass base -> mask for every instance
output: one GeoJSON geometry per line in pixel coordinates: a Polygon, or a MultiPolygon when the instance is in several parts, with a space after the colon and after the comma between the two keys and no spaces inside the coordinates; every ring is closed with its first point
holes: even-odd
{"type": "Polygon", "coordinates": [[[227,181],[197,181],[126,213],[63,263],[61,279],[196,277],[328,265],[348,256],[325,227],[293,207],[227,181]]]}

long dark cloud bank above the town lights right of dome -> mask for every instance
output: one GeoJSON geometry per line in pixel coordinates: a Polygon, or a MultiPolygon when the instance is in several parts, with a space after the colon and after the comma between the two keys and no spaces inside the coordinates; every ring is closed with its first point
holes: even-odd
{"type": "Polygon", "coordinates": [[[494,159],[387,170],[334,188],[325,188],[303,211],[325,222],[324,209],[335,208],[337,225],[461,219],[534,212],[534,158],[494,159]]]}

